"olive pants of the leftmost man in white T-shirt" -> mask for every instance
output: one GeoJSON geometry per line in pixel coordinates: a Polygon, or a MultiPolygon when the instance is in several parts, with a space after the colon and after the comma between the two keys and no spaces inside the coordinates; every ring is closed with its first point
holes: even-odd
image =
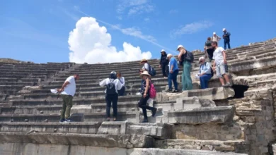
{"type": "Polygon", "coordinates": [[[73,97],[71,95],[62,94],[62,99],[63,105],[60,119],[68,119],[70,117],[71,107],[73,106],[73,97]]]}

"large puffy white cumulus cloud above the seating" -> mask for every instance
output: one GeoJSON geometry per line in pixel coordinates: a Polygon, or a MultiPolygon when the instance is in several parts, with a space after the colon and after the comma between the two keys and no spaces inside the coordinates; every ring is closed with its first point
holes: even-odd
{"type": "Polygon", "coordinates": [[[123,50],[111,46],[111,35],[95,18],[83,17],[69,33],[69,60],[76,63],[112,63],[151,58],[151,52],[142,52],[139,46],[124,42],[123,50]]]}

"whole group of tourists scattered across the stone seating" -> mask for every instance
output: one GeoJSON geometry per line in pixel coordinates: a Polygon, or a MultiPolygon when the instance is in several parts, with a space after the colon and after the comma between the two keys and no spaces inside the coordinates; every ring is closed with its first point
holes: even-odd
{"type": "MultiPolygon", "coordinates": [[[[226,45],[230,49],[230,32],[225,28],[222,30],[224,32],[224,48],[218,46],[219,37],[216,32],[213,33],[212,37],[207,38],[205,42],[205,56],[199,58],[198,63],[200,64],[199,72],[195,75],[197,79],[200,80],[200,87],[202,89],[208,88],[208,82],[216,72],[217,77],[219,77],[220,82],[223,87],[231,87],[228,76],[228,67],[226,61],[226,45]],[[206,59],[209,58],[209,62],[206,59]],[[224,79],[226,82],[224,82],[224,79]]],[[[166,92],[178,93],[177,77],[179,73],[179,67],[183,66],[183,73],[181,75],[182,91],[192,89],[192,78],[190,75],[191,67],[194,62],[194,56],[192,52],[185,49],[183,45],[178,45],[177,51],[179,54],[177,57],[172,54],[166,54],[165,50],[161,50],[161,58],[159,63],[159,68],[162,70],[164,78],[168,78],[168,89],[166,92]],[[174,89],[173,89],[173,86],[174,89]]],[[[153,101],[156,97],[156,89],[151,81],[151,78],[156,75],[156,70],[151,67],[146,59],[140,61],[142,68],[139,70],[139,77],[142,79],[140,91],[137,95],[140,95],[138,106],[142,109],[144,120],[142,123],[149,122],[146,109],[152,112],[154,117],[157,109],[148,106],[149,101],[153,101]]],[[[73,106],[73,97],[76,92],[76,80],[79,80],[79,75],[73,75],[65,80],[62,88],[57,89],[63,99],[61,119],[59,122],[71,122],[70,111],[73,106]]],[[[106,121],[110,121],[110,108],[113,107],[113,121],[117,120],[117,101],[119,96],[125,96],[125,78],[122,77],[122,73],[112,71],[108,78],[101,80],[99,82],[101,87],[106,87],[105,89],[105,101],[106,101],[106,121]]]]}

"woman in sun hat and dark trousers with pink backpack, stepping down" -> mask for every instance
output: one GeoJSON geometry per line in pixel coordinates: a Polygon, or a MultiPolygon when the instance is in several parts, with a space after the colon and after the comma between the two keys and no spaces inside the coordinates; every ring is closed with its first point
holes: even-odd
{"type": "Polygon", "coordinates": [[[151,89],[151,75],[149,75],[149,73],[147,71],[144,71],[140,77],[142,77],[142,79],[144,80],[144,82],[142,83],[142,97],[139,100],[139,108],[142,109],[143,111],[143,115],[144,115],[144,120],[142,121],[142,123],[148,123],[148,116],[146,115],[146,109],[151,110],[152,111],[152,117],[155,116],[156,113],[156,108],[151,107],[151,106],[147,106],[146,102],[149,99],[149,91],[151,89]]]}

